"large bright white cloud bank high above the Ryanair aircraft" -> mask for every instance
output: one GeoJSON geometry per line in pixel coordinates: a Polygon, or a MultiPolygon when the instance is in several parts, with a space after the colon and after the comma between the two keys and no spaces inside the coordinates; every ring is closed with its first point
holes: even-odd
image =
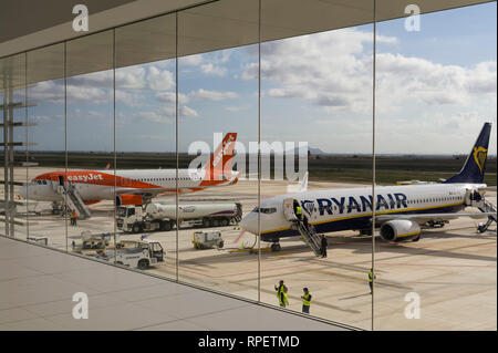
{"type": "MultiPolygon", "coordinates": [[[[383,43],[396,38],[378,37],[383,43]]],[[[261,45],[266,96],[302,98],[324,112],[369,113],[372,110],[372,33],[356,29],[303,35],[261,45]],[[273,86],[273,87],[271,87],[273,86]]],[[[258,64],[241,77],[258,77],[258,64]]],[[[473,68],[443,65],[421,58],[378,53],[377,108],[392,112],[406,102],[425,105],[469,105],[496,95],[496,62],[473,68]]]]}

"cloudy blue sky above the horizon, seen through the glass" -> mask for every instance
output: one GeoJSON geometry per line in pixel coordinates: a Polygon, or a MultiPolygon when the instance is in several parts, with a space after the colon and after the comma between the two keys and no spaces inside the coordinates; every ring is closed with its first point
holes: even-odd
{"type": "MultiPolygon", "coordinates": [[[[496,155],[496,2],[377,24],[376,152],[467,154],[484,122],[496,155]]],[[[373,25],[261,45],[261,139],[372,152],[373,25]]],[[[258,48],[180,58],[179,149],[237,132],[258,139],[258,48]]],[[[113,150],[112,71],[68,79],[68,147],[113,150]]],[[[116,70],[116,150],[175,150],[175,61],[116,70]]],[[[63,81],[29,89],[37,150],[64,149],[63,81]]],[[[21,114],[19,112],[17,114],[21,114]]],[[[21,137],[21,136],[20,136],[21,137]]],[[[22,137],[21,137],[22,138],[22,137]]]]}

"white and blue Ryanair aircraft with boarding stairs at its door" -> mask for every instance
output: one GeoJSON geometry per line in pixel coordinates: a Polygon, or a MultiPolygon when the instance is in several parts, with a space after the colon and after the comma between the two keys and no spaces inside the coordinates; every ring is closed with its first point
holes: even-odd
{"type": "Polygon", "coordinates": [[[463,216],[488,218],[487,229],[491,221],[496,222],[496,209],[484,199],[486,189],[489,189],[484,184],[484,174],[490,131],[491,124],[486,123],[460,173],[444,183],[375,187],[374,203],[371,187],[308,191],[307,175],[301,191],[263,200],[261,207],[248,214],[240,226],[259,235],[262,241],[273,242],[272,249],[278,250],[282,237],[310,238],[317,232],[341,230],[372,233],[374,204],[375,225],[386,241],[417,241],[421,226],[442,227],[463,216]],[[295,216],[298,206],[302,209],[301,218],[295,216]],[[467,206],[478,207],[481,212],[461,212],[467,206]],[[304,218],[311,226],[300,225],[304,218]]]}

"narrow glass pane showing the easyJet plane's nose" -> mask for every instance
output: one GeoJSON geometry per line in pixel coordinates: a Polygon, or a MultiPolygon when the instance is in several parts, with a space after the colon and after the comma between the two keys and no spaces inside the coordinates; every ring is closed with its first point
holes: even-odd
{"type": "Polygon", "coordinates": [[[28,204],[29,239],[65,250],[65,200],[55,177],[56,170],[65,168],[64,79],[60,79],[64,76],[64,44],[31,51],[27,56],[28,139],[32,146],[25,156],[29,183],[21,194],[28,204]]]}

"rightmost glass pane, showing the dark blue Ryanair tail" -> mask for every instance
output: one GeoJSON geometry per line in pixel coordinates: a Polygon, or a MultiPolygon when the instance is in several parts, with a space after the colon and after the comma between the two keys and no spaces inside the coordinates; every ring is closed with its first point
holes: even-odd
{"type": "MultiPolygon", "coordinates": [[[[404,184],[380,193],[406,199],[390,214],[496,205],[496,189],[465,199],[481,181],[496,186],[496,10],[378,23],[377,183],[404,184]],[[485,123],[490,137],[478,139],[485,123]]],[[[405,217],[377,237],[375,330],[496,330],[496,222],[479,232],[486,216],[405,217]]]]}

